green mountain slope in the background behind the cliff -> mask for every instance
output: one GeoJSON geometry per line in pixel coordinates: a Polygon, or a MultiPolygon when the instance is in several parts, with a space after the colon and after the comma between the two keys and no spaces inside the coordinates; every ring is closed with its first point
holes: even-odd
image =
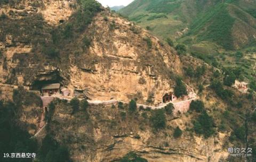
{"type": "Polygon", "coordinates": [[[186,39],[190,39],[190,44],[209,41],[234,50],[251,46],[256,41],[255,7],[255,1],[243,0],[137,0],[119,12],[143,27],[150,27],[162,38],[180,38],[186,33],[182,30],[188,28],[181,42],[186,39]]]}

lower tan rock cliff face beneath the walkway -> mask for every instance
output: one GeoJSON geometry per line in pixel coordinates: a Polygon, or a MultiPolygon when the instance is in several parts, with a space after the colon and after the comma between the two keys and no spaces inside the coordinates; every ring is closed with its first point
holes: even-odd
{"type": "Polygon", "coordinates": [[[117,161],[130,151],[150,162],[217,162],[228,156],[222,149],[228,136],[218,133],[204,139],[191,135],[186,129],[191,126],[191,116],[167,115],[167,128],[154,131],[148,118],[150,111],[130,114],[126,105],[124,109],[99,105],[70,116],[70,106],[62,101],[56,105],[49,130],[58,141],[68,145],[75,161],[117,161]],[[121,112],[126,112],[125,118],[121,112]],[[175,139],[173,132],[177,126],[183,134],[175,139]]]}

